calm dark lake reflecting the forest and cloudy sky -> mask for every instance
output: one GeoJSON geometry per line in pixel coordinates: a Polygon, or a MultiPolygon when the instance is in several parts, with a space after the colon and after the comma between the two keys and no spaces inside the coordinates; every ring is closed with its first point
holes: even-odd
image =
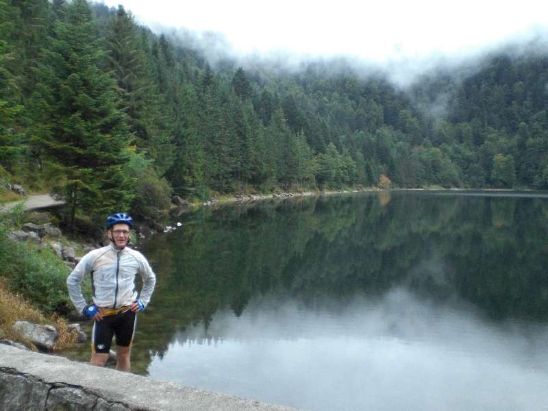
{"type": "Polygon", "coordinates": [[[134,371],[303,410],[548,410],[548,197],[202,210],[144,252],[134,371]]]}

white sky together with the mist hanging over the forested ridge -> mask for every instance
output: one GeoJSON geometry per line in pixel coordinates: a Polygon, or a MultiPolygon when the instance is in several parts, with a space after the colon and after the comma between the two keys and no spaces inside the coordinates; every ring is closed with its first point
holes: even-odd
{"type": "Polygon", "coordinates": [[[232,60],[245,69],[294,73],[311,62],[337,67],[345,60],[364,77],[382,71],[404,88],[440,69],[470,75],[490,53],[546,53],[548,42],[542,17],[548,5],[528,0],[519,7],[490,1],[440,7],[427,0],[104,3],[123,4],[138,23],[203,52],[212,66],[232,60]]]}

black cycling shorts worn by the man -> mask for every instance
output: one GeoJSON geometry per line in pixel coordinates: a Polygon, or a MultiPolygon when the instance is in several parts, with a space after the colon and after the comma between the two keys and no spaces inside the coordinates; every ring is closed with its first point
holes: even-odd
{"type": "Polygon", "coordinates": [[[91,335],[92,352],[108,353],[113,336],[116,336],[116,345],[129,347],[132,345],[136,323],[136,315],[131,310],[95,321],[91,335]]]}

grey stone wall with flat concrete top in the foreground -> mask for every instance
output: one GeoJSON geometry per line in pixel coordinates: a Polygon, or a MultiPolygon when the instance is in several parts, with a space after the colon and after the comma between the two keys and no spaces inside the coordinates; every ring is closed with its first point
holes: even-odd
{"type": "Polygon", "coordinates": [[[0,345],[0,410],[291,411],[0,345]]]}

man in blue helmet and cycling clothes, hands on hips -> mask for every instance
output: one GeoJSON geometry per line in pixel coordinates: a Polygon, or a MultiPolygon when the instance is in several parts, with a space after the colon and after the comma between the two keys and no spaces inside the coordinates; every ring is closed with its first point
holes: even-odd
{"type": "Polygon", "coordinates": [[[90,364],[104,366],[116,336],[116,369],[131,368],[129,356],[136,325],[136,312],[147,307],[156,277],[141,253],[127,246],[133,219],[119,212],[106,221],[110,245],[90,251],[66,279],[69,295],[78,312],[95,320],[90,364]],[[91,275],[93,303],[82,295],[82,279],[91,275]],[[135,276],[142,278],[142,290],[135,288],[135,276]]]}

